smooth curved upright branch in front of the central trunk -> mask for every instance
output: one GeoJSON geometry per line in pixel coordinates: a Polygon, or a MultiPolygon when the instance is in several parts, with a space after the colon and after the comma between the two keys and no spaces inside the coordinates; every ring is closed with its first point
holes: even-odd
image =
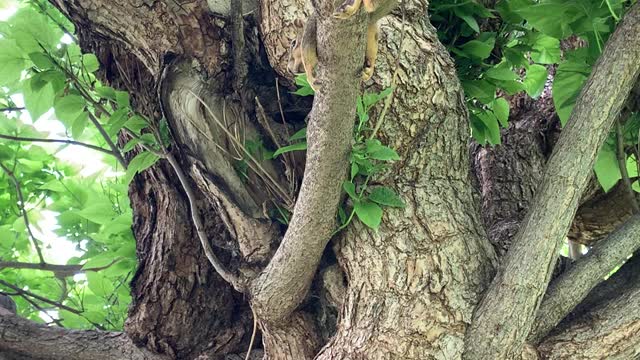
{"type": "Polygon", "coordinates": [[[332,18],[333,1],[318,1],[319,86],[307,130],[304,179],[289,228],[276,254],[252,284],[258,317],[278,321],[304,299],[320,256],[336,228],[340,189],[353,133],[364,17],[332,18]],[[356,46],[354,46],[354,44],[356,46]]]}

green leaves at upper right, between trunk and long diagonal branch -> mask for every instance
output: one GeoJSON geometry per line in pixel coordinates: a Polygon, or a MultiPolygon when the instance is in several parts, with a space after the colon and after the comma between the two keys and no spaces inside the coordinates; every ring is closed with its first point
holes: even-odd
{"type": "MultiPolygon", "coordinates": [[[[431,1],[431,21],[456,61],[466,93],[473,138],[500,144],[500,128],[509,125],[502,96],[524,91],[539,97],[550,66],[556,66],[553,102],[565,125],[604,43],[634,2],[501,0],[487,9],[475,1],[431,1]],[[586,46],[563,52],[560,42],[568,39],[586,46]]],[[[628,123],[639,122],[634,116],[628,123]]],[[[638,144],[638,132],[625,134],[627,148],[638,144]]],[[[607,144],[594,167],[605,190],[620,179],[613,135],[607,144]]]]}

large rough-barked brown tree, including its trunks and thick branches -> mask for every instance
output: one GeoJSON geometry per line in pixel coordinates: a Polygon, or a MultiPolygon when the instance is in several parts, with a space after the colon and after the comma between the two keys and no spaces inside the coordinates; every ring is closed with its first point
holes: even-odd
{"type": "MultiPolygon", "coordinates": [[[[463,353],[517,358],[595,153],[638,71],[627,61],[637,59],[640,49],[640,5],[635,5],[594,69],[555,145],[557,154],[547,161],[551,146],[539,142],[552,112],[533,110],[547,118],[513,112],[519,118],[512,119],[505,146],[474,153],[477,194],[456,69],[428,21],[428,1],[405,0],[403,9],[381,20],[376,74],[366,87],[388,87],[391,74],[398,73],[378,137],[401,160],[370,185],[393,188],[407,206],[385,211],[377,232],[355,222],[332,239],[364,58],[365,14],[338,21],[330,16],[338,1],[313,2],[320,86],[303,169],[293,158],[254,161],[239,149],[258,137],[275,147],[304,126],[311,104],[286,91],[291,75],[285,70],[293,20],[312,11],[302,0],[51,2],[76,24],[83,49],[97,53],[102,80],[129,90],[136,111],[168,121],[177,160],[138,175],[130,188],[139,267],[125,332],[41,328],[0,309],[0,354],[15,358],[218,359],[246,351],[254,316],[262,340],[256,347],[268,359],[459,359],[463,353]],[[601,81],[611,74],[621,80],[601,81]],[[571,146],[580,151],[561,158],[571,146]],[[238,161],[250,164],[248,178],[239,175],[238,161]],[[193,225],[184,184],[172,166],[187,174],[204,229],[193,225]],[[502,176],[510,167],[520,170],[517,179],[502,176]],[[543,168],[557,173],[546,175],[536,189],[543,168]],[[300,185],[294,174],[302,171],[300,185]],[[506,191],[498,188],[500,181],[520,182],[506,191]],[[558,197],[566,206],[557,206],[558,197]],[[288,229],[269,217],[276,203],[293,210],[288,229]],[[235,289],[210,265],[197,230],[240,279],[235,289]],[[24,336],[33,341],[53,336],[50,343],[58,352],[40,353],[32,342],[20,341],[24,336]]],[[[535,106],[549,109],[548,102],[546,96],[535,106]]],[[[614,205],[587,201],[584,213],[618,206],[606,199],[614,205]]],[[[606,235],[617,227],[617,217],[583,238],[606,235]]],[[[620,232],[637,229],[637,219],[632,221],[620,232]]],[[[637,264],[625,265],[589,296],[584,290],[597,285],[610,265],[603,260],[597,273],[590,272],[598,268],[590,265],[598,253],[615,254],[606,260],[617,261],[637,248],[637,241],[626,236],[620,241],[619,234],[567,273],[584,280],[568,291],[586,299],[575,314],[568,312],[577,304],[558,311],[557,320],[564,320],[549,336],[536,338],[539,345],[528,346],[527,356],[567,358],[568,349],[584,358],[638,352],[633,311],[639,306],[638,283],[625,277],[637,264]],[[618,242],[624,251],[609,251],[607,245],[618,242]],[[607,286],[617,286],[619,296],[603,290],[607,286]]],[[[553,299],[554,293],[548,296],[553,299]]]]}

